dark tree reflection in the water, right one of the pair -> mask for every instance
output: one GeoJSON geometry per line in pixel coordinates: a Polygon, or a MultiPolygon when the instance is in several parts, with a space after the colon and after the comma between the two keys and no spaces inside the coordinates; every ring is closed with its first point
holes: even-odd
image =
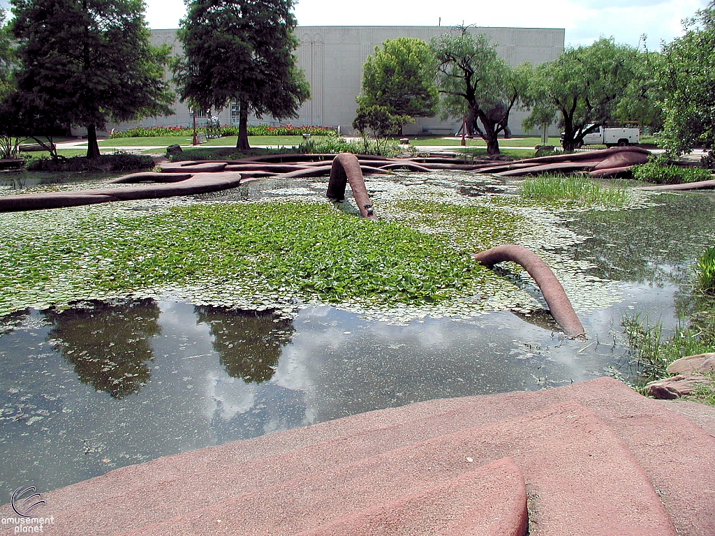
{"type": "Polygon", "coordinates": [[[278,366],[282,348],[295,331],[292,322],[257,311],[194,307],[197,322],[208,324],[213,347],[230,377],[246,383],[267,382],[278,366]]]}

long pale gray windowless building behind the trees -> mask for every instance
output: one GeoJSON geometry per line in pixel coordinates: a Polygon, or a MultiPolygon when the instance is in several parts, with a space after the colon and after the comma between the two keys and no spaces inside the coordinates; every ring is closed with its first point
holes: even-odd
{"type": "MultiPolygon", "coordinates": [[[[297,119],[284,121],[295,125],[335,126],[340,134],[352,134],[352,119],[355,118],[357,103],[355,97],[360,93],[363,63],[375,53],[385,39],[415,37],[430,41],[450,31],[445,26],[297,26],[295,35],[300,39],[297,49],[298,66],[305,72],[310,83],[312,98],[306,101],[299,111],[297,119]]],[[[550,28],[470,28],[474,34],[485,34],[491,43],[496,44],[498,54],[511,66],[528,61],[540,64],[555,59],[563,51],[563,29],[550,28]]],[[[175,29],[152,30],[152,44],[171,46],[172,54],[182,54],[181,42],[175,29]]],[[[167,71],[167,76],[169,72],[167,71]]],[[[171,116],[159,116],[108,125],[108,129],[129,129],[138,124],[190,126],[192,111],[177,101],[176,111],[171,116]]],[[[221,124],[237,124],[238,114],[235,106],[224,110],[214,110],[211,114],[220,118],[221,124]]],[[[523,134],[521,120],[524,111],[513,111],[509,126],[514,134],[523,134]]],[[[207,112],[197,111],[197,124],[205,124],[207,112]]],[[[249,124],[272,124],[278,122],[272,117],[257,119],[249,117],[249,124]]],[[[458,131],[462,118],[440,121],[439,117],[420,117],[415,124],[405,126],[405,135],[443,134],[458,131]]]]}

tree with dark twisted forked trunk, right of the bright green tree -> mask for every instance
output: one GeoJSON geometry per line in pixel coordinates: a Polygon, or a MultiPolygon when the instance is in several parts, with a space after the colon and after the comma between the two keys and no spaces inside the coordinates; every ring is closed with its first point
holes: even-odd
{"type": "Polygon", "coordinates": [[[498,135],[508,131],[526,69],[514,72],[486,36],[473,35],[467,27],[456,30],[457,34],[442,34],[431,41],[443,119],[464,116],[469,131],[487,142],[487,154],[499,154],[498,135]]]}

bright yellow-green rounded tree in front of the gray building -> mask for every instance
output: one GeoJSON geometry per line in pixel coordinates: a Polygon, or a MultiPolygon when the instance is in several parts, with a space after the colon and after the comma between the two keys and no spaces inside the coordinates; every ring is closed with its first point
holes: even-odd
{"type": "MultiPolygon", "coordinates": [[[[393,116],[431,117],[438,111],[435,59],[425,41],[385,39],[363,64],[360,108],[384,106],[393,116]]],[[[400,125],[402,126],[402,125],[400,125]]]]}

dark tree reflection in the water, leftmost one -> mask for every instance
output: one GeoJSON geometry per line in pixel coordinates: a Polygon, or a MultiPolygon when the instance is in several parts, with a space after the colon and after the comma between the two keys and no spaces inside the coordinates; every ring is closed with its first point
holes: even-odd
{"type": "Polygon", "coordinates": [[[74,367],[82,383],[113,398],[136,394],[149,382],[150,339],[159,334],[153,299],[89,302],[66,311],[49,309],[47,340],[74,367]]]}

